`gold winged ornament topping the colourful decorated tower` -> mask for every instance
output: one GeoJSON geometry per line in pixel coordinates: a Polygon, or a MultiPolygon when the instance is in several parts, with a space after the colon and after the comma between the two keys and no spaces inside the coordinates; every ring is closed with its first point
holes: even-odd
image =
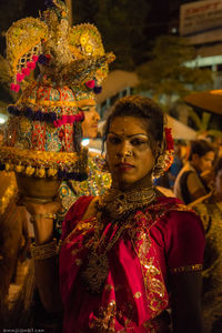
{"type": "Polygon", "coordinates": [[[104,53],[101,36],[93,24],[70,27],[64,3],[57,0],[52,3],[41,19],[19,20],[7,32],[7,59],[14,82],[33,56],[41,52],[48,62],[40,71],[53,83],[80,85],[92,78],[101,82],[114,54],[104,53]]]}

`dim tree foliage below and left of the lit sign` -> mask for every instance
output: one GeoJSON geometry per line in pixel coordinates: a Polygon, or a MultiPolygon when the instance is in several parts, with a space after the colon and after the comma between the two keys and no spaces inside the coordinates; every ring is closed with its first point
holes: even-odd
{"type": "Polygon", "coordinates": [[[140,78],[138,89],[149,91],[158,100],[165,97],[171,103],[173,98],[183,98],[191,90],[210,88],[212,84],[210,70],[185,65],[185,62],[194,58],[195,50],[184,38],[175,36],[157,38],[150,52],[150,61],[138,68],[140,78]]]}

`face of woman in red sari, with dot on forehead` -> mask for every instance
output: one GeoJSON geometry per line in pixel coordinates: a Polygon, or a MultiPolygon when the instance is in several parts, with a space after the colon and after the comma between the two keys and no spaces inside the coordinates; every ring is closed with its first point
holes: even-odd
{"type": "Polygon", "coordinates": [[[117,117],[112,120],[107,137],[107,162],[114,188],[151,185],[154,155],[141,118],[117,117]]]}

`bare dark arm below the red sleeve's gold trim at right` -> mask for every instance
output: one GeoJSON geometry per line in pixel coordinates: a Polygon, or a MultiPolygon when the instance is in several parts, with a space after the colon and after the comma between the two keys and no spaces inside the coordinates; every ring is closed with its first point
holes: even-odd
{"type": "Polygon", "coordinates": [[[171,274],[173,333],[202,333],[201,272],[171,274]]]}

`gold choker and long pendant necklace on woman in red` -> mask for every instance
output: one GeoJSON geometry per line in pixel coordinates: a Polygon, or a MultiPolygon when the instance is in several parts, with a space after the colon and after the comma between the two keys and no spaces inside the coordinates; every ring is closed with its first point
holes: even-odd
{"type": "MultiPolygon", "coordinates": [[[[100,293],[108,276],[109,260],[108,252],[112,249],[114,243],[119,240],[127,225],[132,226],[132,213],[138,208],[142,208],[155,198],[153,186],[140,190],[130,190],[121,192],[115,189],[108,190],[101,198],[98,204],[98,223],[95,223],[94,243],[89,250],[88,262],[85,269],[82,271],[82,279],[92,293],[100,293]],[[117,210],[114,212],[114,210],[117,210]],[[101,252],[101,245],[104,243],[105,235],[100,238],[100,229],[102,225],[102,216],[109,213],[109,220],[115,221],[115,226],[121,218],[128,215],[121,223],[121,226],[101,252]]],[[[112,222],[113,222],[112,221],[112,222]]],[[[103,225],[102,225],[103,226],[103,225]]]]}

